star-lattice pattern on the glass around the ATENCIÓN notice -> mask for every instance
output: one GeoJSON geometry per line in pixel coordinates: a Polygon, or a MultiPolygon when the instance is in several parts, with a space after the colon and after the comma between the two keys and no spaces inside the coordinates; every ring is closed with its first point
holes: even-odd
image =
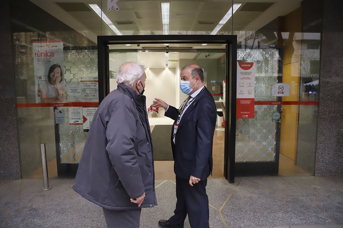
{"type": "MultiPolygon", "coordinates": [[[[278,83],[279,50],[237,49],[237,61],[254,62],[255,100],[275,101],[272,85],[278,83]]],[[[272,112],[276,105],[255,105],[254,119],[236,119],[236,162],[274,161],[276,148],[276,123],[272,112]]]]}

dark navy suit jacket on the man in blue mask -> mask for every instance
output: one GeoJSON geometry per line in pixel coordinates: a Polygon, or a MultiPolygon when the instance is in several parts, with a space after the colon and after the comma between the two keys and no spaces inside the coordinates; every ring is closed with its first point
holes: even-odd
{"type": "MultiPolygon", "coordinates": [[[[165,116],[177,121],[177,108],[169,106],[165,116]]],[[[212,145],[216,123],[216,106],[208,89],[192,101],[181,118],[173,142],[174,124],[171,129],[171,148],[176,176],[205,180],[212,173],[212,145]]]]}

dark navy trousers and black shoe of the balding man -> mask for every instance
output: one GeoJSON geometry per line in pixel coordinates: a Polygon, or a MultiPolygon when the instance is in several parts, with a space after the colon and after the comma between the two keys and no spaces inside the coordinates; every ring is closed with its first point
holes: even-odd
{"type": "Polygon", "coordinates": [[[176,176],[176,208],[175,215],[169,222],[179,227],[184,227],[188,214],[189,224],[192,228],[209,228],[209,198],[206,194],[207,179],[189,185],[189,179],[176,176]]]}

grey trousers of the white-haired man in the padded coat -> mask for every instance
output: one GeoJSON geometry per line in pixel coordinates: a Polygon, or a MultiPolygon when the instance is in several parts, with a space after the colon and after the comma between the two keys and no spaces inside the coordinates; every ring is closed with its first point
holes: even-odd
{"type": "Polygon", "coordinates": [[[107,228],[139,228],[141,208],[113,211],[103,208],[107,228]]]}

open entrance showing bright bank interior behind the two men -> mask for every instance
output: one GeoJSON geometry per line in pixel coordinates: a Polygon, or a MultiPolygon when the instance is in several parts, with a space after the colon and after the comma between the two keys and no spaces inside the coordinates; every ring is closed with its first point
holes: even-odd
{"type": "Polygon", "coordinates": [[[204,72],[204,84],[212,94],[217,107],[217,123],[213,139],[213,176],[224,175],[225,44],[139,44],[108,45],[109,92],[117,88],[117,73],[125,62],[136,62],[144,67],[146,110],[154,145],[154,165],[157,179],[174,178],[174,161],[170,145],[170,131],[174,120],[164,116],[164,109],[154,108],[158,97],[168,105],[179,107],[187,98],[179,89],[180,69],[188,64],[199,65],[204,72]],[[224,109],[224,111],[223,111],[224,109]]]}

